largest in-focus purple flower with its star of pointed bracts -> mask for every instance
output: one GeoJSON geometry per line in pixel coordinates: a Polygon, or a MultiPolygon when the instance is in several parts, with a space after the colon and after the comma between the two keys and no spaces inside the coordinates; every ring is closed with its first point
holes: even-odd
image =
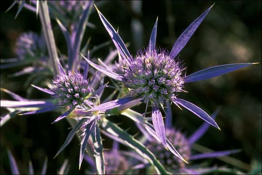
{"type": "Polygon", "coordinates": [[[185,92],[183,89],[185,83],[212,78],[254,64],[241,63],[215,66],[197,71],[188,76],[183,73],[184,68],[180,66],[180,61],[177,56],[186,45],[190,37],[197,30],[197,27],[209,13],[211,8],[212,6],[189,25],[189,27],[175,42],[170,53],[166,50],[158,50],[155,47],[157,33],[156,21],[147,49],[144,52],[138,52],[135,58],[133,58],[129,53],[124,42],[118,35],[118,32],[115,31],[112,25],[97,9],[98,15],[109,35],[113,39],[115,47],[121,57],[127,62],[128,66],[123,68],[123,74],[118,74],[96,65],[88,59],[85,60],[91,66],[105,73],[109,77],[123,82],[125,86],[129,88],[130,93],[125,98],[95,106],[90,109],[90,111],[107,110],[125,105],[127,103],[134,105],[139,102],[144,102],[148,105],[150,102],[152,105],[153,125],[158,137],[162,140],[164,145],[166,145],[164,121],[160,108],[164,108],[165,102],[171,101],[175,105],[181,105],[204,121],[212,124],[216,128],[219,128],[215,121],[200,107],[177,97],[179,92],[185,92]]]}

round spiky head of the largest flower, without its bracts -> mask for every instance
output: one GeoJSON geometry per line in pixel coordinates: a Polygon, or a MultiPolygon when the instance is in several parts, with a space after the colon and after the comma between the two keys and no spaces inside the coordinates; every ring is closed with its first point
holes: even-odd
{"type": "Polygon", "coordinates": [[[178,59],[166,51],[140,51],[124,72],[126,86],[130,95],[149,101],[161,107],[166,101],[173,101],[177,92],[183,92],[183,76],[178,59]]]}

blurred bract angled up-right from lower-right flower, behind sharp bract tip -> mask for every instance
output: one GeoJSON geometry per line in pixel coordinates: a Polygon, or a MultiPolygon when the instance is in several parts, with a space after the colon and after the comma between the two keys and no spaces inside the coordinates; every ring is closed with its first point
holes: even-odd
{"type": "MultiPolygon", "coordinates": [[[[213,114],[210,116],[212,119],[215,119],[217,116],[219,109],[215,110],[213,114]]],[[[197,140],[199,140],[208,130],[210,124],[209,123],[203,123],[189,138],[188,142],[189,144],[195,143],[197,140]]]]}

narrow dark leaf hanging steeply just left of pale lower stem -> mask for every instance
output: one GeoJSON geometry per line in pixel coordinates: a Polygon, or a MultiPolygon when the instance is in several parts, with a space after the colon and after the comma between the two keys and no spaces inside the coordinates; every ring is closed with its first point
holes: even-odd
{"type": "Polygon", "coordinates": [[[93,120],[90,123],[88,123],[84,128],[85,132],[83,134],[83,138],[82,138],[82,141],[81,141],[81,148],[80,148],[79,169],[81,168],[83,156],[84,156],[85,149],[86,149],[86,146],[87,146],[87,143],[88,143],[88,138],[90,136],[90,133],[94,132],[95,127],[96,127],[96,121],[93,120]]]}

